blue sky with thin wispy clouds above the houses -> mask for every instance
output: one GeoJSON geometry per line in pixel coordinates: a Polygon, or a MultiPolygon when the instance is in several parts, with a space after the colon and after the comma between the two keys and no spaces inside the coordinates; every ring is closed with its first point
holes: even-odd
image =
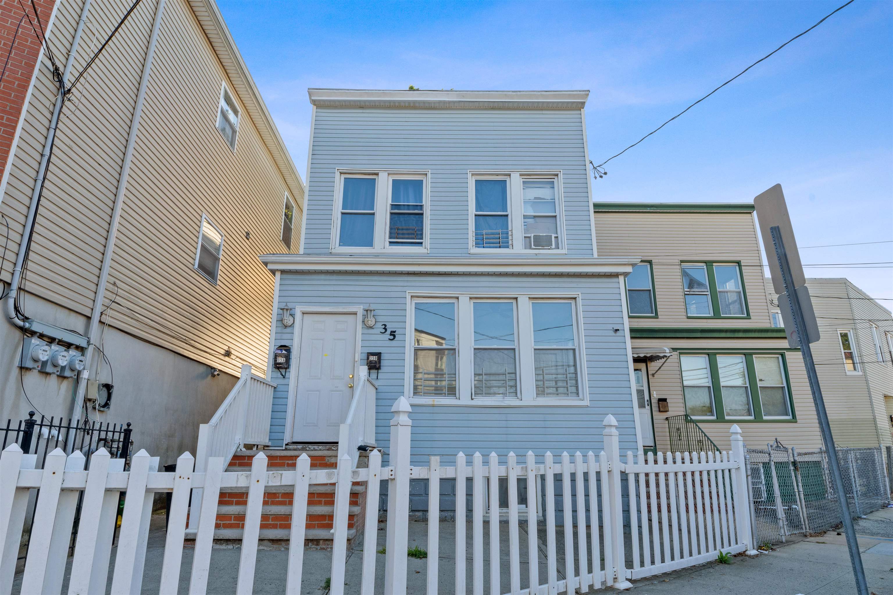
{"type": "MultiPolygon", "coordinates": [[[[843,1],[218,4],[303,178],[307,88],[588,89],[601,163],[843,1]]],[[[799,246],[887,240],[803,248],[804,264],[847,264],[807,276],[893,298],[879,268],[893,267],[893,3],[856,0],[605,168],[596,201],[750,202],[780,183],[799,246]]]]}

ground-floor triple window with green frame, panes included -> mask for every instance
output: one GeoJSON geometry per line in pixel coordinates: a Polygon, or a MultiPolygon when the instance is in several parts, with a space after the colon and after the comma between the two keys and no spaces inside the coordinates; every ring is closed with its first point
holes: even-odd
{"type": "Polygon", "coordinates": [[[796,421],[780,353],[680,353],[685,411],[698,421],[796,421]]]}

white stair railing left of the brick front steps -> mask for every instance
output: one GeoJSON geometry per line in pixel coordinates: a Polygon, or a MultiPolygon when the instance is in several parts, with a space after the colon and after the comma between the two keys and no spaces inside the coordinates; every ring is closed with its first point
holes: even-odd
{"type": "MultiPolygon", "coordinates": [[[[196,473],[204,473],[210,457],[222,457],[223,467],[243,444],[270,445],[270,415],[274,384],[251,373],[243,365],[236,386],[208,423],[198,426],[196,473]]],[[[194,490],[189,529],[198,528],[202,490],[194,490]]]]}

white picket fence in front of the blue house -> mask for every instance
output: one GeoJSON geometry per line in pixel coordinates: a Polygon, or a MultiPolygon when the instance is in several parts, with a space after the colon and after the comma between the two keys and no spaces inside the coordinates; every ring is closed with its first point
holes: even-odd
{"type": "MultiPolygon", "coordinates": [[[[563,453],[554,457],[546,453],[543,463],[528,452],[522,460],[513,454],[500,457],[491,454],[472,456],[467,464],[463,453],[456,456],[456,465],[441,466],[439,457],[431,457],[430,465],[410,465],[412,422],[410,406],[400,398],[392,409],[390,466],[381,466],[380,451],[372,451],[369,467],[353,468],[351,458],[343,454],[337,469],[310,468],[310,459],[302,456],[294,471],[267,471],[267,458],[258,454],[250,472],[225,473],[223,457],[212,457],[204,473],[193,472],[193,457],[179,457],[175,473],[158,473],[158,459],[145,450],[133,456],[130,471],[113,470],[114,461],[104,449],[97,451],[89,471],[83,471],[85,459],[79,453],[65,457],[61,449],[46,458],[45,468],[33,469],[33,456],[22,455],[13,445],[0,457],[0,595],[11,591],[15,556],[21,539],[21,525],[29,490],[39,488],[40,498],[35,514],[36,534],[51,536],[32,543],[25,563],[21,592],[59,593],[63,586],[65,549],[71,534],[74,508],[79,492],[84,495],[83,513],[71,566],[68,592],[104,593],[111,552],[111,530],[118,493],[127,490],[121,537],[115,557],[111,592],[139,592],[146,557],[146,541],[151,514],[152,494],[172,491],[171,514],[163,555],[159,592],[176,593],[188,515],[190,490],[202,489],[201,512],[198,513],[190,593],[204,593],[208,586],[214,520],[220,490],[247,487],[245,531],[238,568],[238,593],[250,593],[255,579],[255,561],[260,529],[263,491],[266,486],[294,486],[291,547],[288,550],[287,593],[299,593],[304,563],[305,518],[308,486],[336,483],[336,520],[331,553],[331,593],[344,592],[346,566],[348,505],[352,482],[365,483],[367,502],[362,552],[363,594],[375,588],[378,510],[380,481],[388,481],[388,515],[386,555],[384,559],[384,592],[406,593],[409,524],[409,484],[411,479],[430,482],[428,521],[427,592],[438,592],[438,578],[447,574],[455,580],[455,592],[484,592],[484,525],[488,527],[489,585],[494,595],[530,595],[559,592],[586,592],[590,587],[627,588],[629,579],[659,574],[714,559],[719,551],[737,553],[752,549],[745,476],[744,446],[740,431],[733,426],[732,450],[714,460],[713,455],[672,456],[663,460],[654,457],[622,458],[618,448],[617,423],[612,415],[605,418],[605,450],[598,455],[563,453]],[[488,465],[484,465],[484,461],[488,465]],[[556,495],[560,478],[561,495],[556,495]],[[487,515],[487,501],[498,507],[499,480],[507,480],[507,543],[501,541],[498,514],[487,515]],[[456,481],[457,519],[467,518],[466,481],[472,481],[472,573],[466,571],[466,523],[455,526],[455,568],[439,568],[439,531],[446,523],[439,520],[442,480],[456,481]],[[625,480],[625,482],[624,482],[625,480]],[[526,482],[528,508],[527,543],[519,539],[522,512],[519,507],[519,481],[526,482]],[[546,532],[546,576],[539,575],[537,563],[528,564],[522,588],[522,551],[528,560],[539,560],[538,505],[536,494],[544,484],[545,509],[541,515],[546,532]],[[630,523],[623,523],[623,485],[627,486],[630,523]],[[572,489],[573,486],[573,489],[572,489]],[[557,552],[558,527],[556,501],[562,502],[559,517],[563,533],[564,578],[558,579],[560,557],[557,552]],[[574,515],[574,509],[577,514],[574,515]],[[588,510],[588,515],[586,511],[588,510]],[[599,513],[602,523],[599,525],[599,513]],[[576,516],[576,522],[574,517],[576,516]],[[587,531],[587,518],[589,531],[587,531]],[[576,529],[576,535],[574,534],[576,529]],[[624,534],[630,538],[631,568],[627,567],[624,534]],[[509,554],[508,575],[501,575],[500,553],[509,554]],[[469,581],[470,579],[470,581],[469,581]]],[[[195,498],[195,497],[194,497],[195,498]]],[[[444,590],[446,591],[446,590],[444,590]]]]}

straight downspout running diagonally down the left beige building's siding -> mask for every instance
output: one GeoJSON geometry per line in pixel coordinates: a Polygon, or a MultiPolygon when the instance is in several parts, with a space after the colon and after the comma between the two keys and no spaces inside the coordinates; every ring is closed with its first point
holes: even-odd
{"type": "Polygon", "coordinates": [[[71,417],[78,415],[84,403],[84,393],[87,390],[87,381],[90,375],[90,364],[96,345],[96,331],[99,328],[99,319],[102,316],[102,306],[105,296],[105,283],[108,281],[109,268],[112,264],[114,240],[118,232],[118,221],[121,218],[121,204],[124,202],[124,190],[127,188],[127,178],[130,173],[130,163],[133,160],[133,149],[137,144],[137,130],[139,119],[143,113],[143,101],[146,99],[146,88],[149,83],[149,73],[152,71],[152,58],[155,52],[155,44],[158,41],[158,30],[161,29],[162,15],[164,13],[164,1],[158,0],[155,7],[155,20],[152,23],[152,34],[149,36],[149,46],[146,48],[146,59],[143,62],[143,77],[139,81],[137,103],[133,107],[133,117],[130,119],[130,132],[127,138],[127,147],[124,149],[124,161],[121,163],[121,175],[118,178],[118,189],[115,191],[112,221],[109,222],[109,233],[105,238],[105,252],[103,264],[99,269],[99,281],[96,284],[96,297],[93,300],[93,313],[90,314],[90,326],[87,331],[89,340],[84,353],[84,371],[80,373],[78,380],[78,392],[75,395],[71,409],[71,417]]]}

